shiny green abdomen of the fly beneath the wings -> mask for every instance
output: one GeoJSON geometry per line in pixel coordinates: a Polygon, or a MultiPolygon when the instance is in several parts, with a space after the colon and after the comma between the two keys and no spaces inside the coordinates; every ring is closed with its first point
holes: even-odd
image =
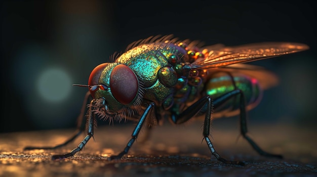
{"type": "MultiPolygon", "coordinates": [[[[258,81],[241,73],[216,72],[211,75],[206,84],[206,94],[213,99],[218,98],[230,91],[240,89],[244,93],[247,109],[255,107],[262,97],[262,90],[258,81]]],[[[231,116],[239,113],[240,99],[232,98],[217,107],[215,112],[221,115],[231,116]]]]}

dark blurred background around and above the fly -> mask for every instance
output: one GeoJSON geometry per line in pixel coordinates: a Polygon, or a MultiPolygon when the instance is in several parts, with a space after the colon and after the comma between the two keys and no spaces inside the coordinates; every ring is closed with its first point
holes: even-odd
{"type": "Polygon", "coordinates": [[[313,2],[72,0],[1,5],[0,132],[74,127],[87,89],[71,85],[87,84],[90,72],[115,51],[157,34],[206,45],[308,44],[308,51],[253,62],[275,72],[280,84],[264,93],[249,121],[316,127],[313,2]]]}

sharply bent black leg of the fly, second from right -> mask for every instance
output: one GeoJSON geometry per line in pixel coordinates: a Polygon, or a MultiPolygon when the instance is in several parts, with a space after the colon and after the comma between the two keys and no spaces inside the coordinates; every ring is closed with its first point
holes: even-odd
{"type": "MultiPolygon", "coordinates": [[[[226,96],[229,96],[229,94],[225,94],[226,96]]],[[[210,121],[211,121],[211,114],[212,114],[212,105],[213,101],[211,100],[210,96],[205,96],[201,98],[200,100],[193,103],[191,106],[186,108],[182,113],[179,115],[172,115],[172,120],[176,124],[181,124],[193,117],[196,113],[198,113],[204,105],[207,103],[207,110],[205,114],[205,121],[204,121],[204,130],[203,130],[203,136],[204,139],[209,147],[210,152],[212,155],[214,155],[219,161],[225,163],[225,164],[235,164],[235,165],[244,165],[244,162],[241,161],[229,161],[226,160],[216,152],[213,144],[211,143],[209,139],[209,131],[210,131],[210,121]]]]}

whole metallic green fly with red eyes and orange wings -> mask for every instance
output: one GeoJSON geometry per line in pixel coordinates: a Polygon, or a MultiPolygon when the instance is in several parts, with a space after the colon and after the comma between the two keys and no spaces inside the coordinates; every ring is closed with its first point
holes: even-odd
{"type": "Polygon", "coordinates": [[[128,153],[142,127],[155,126],[166,117],[174,124],[182,124],[201,115],[203,136],[212,155],[225,164],[244,165],[242,161],[222,158],[209,138],[213,118],[235,114],[240,114],[242,136],[260,155],[282,158],[263,151],[247,135],[246,124],[246,112],[259,103],[263,89],[276,84],[276,77],[260,67],[242,63],[308,48],[305,44],[288,42],[199,47],[197,42],[179,41],[171,35],[136,41],[110,63],[97,66],[88,85],[76,85],[88,87],[89,91],[77,131],[69,140],[54,147],[25,147],[25,150],[56,149],[83,133],[82,120],[91,97],[86,116],[87,136],[71,152],[53,155],[52,159],[71,157],[81,151],[93,137],[97,116],[109,121],[137,122],[127,146],[108,158],[112,160],[128,153]]]}

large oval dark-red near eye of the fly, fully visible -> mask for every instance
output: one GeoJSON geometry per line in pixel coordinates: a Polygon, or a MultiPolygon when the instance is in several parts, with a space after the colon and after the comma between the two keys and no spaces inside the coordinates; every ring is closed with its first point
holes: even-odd
{"type": "Polygon", "coordinates": [[[138,94],[138,79],[129,67],[117,65],[110,75],[110,89],[117,101],[128,105],[138,94]]]}

